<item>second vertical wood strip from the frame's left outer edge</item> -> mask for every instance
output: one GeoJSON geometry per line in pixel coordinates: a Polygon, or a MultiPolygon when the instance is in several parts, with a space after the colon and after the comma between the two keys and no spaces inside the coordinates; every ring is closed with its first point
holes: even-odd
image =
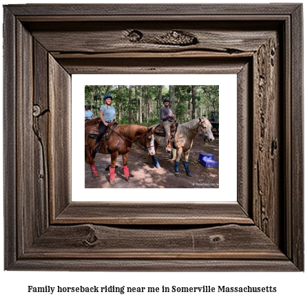
{"type": "MultiPolygon", "coordinates": [[[[34,131],[32,129],[32,83],[33,66],[32,56],[32,36],[28,30],[17,22],[17,55],[16,65],[18,72],[17,82],[27,82],[27,85],[17,85],[16,103],[17,105],[17,225],[18,233],[23,236],[22,241],[18,241],[18,253],[23,254],[27,247],[32,245],[37,237],[36,224],[36,191],[33,186],[34,174],[34,131]],[[31,175],[31,176],[29,176],[31,175]],[[31,202],[27,200],[30,199],[31,202]],[[26,225],[26,226],[25,226],[26,225]]],[[[16,150],[15,150],[16,151],[16,150]]]]}

